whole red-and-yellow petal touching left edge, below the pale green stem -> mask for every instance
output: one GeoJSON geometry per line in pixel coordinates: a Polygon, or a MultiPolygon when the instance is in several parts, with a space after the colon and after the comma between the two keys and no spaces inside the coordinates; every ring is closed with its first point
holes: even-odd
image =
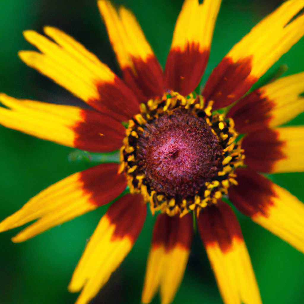
{"type": "Polygon", "coordinates": [[[127,185],[126,177],[117,174],[118,168],[119,164],[100,164],[58,181],[4,219],[0,223],[0,231],[38,219],[12,238],[13,242],[23,242],[111,202],[127,185]]]}

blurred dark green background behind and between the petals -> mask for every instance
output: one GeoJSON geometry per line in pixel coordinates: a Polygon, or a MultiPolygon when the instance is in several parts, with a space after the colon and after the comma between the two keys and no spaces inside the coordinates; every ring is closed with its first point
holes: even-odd
{"type": "MultiPolygon", "coordinates": [[[[157,58],[164,67],[174,23],[182,0],[116,0],[133,10],[157,58]]],[[[223,0],[202,84],[234,43],[282,1],[223,0]]],[[[119,74],[105,26],[95,0],[1,0],[0,91],[17,98],[60,104],[83,105],[65,89],[26,67],[18,50],[33,49],[22,36],[25,29],[42,33],[44,25],[56,26],[83,43],[119,74]]],[[[268,72],[287,64],[293,74],[304,71],[304,40],[300,40],[268,72]]],[[[265,75],[260,83],[263,83],[265,75]]],[[[304,116],[291,125],[304,123],[304,116]]],[[[8,130],[0,126],[0,219],[4,219],[39,191],[95,163],[71,162],[73,149],[8,130]]],[[[304,201],[303,173],[278,174],[271,178],[304,201]]],[[[0,235],[0,304],[68,304],[77,294],[67,291],[86,241],[106,206],[26,241],[10,238],[20,229],[0,235]]],[[[264,304],[303,303],[304,255],[267,230],[237,214],[260,286],[264,304]]],[[[155,218],[150,214],[133,250],[92,303],[140,303],[146,258],[155,218]]],[[[303,219],[304,220],[304,219],[303,219]]],[[[158,296],[153,303],[159,303],[158,296]]],[[[178,303],[222,303],[203,246],[196,235],[178,303]]]]}

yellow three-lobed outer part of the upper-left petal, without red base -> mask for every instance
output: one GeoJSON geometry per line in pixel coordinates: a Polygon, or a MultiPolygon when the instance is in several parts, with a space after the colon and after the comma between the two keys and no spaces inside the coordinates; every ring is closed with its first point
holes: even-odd
{"type": "Polygon", "coordinates": [[[59,29],[46,26],[44,31],[59,44],[35,31],[24,31],[26,40],[42,53],[20,51],[20,58],[84,101],[99,99],[97,84],[113,83],[114,73],[80,43],[59,29]]]}

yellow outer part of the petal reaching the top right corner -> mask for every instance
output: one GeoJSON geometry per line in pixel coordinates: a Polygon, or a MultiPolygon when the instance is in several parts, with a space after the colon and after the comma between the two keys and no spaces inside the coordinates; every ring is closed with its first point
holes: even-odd
{"type": "Polygon", "coordinates": [[[304,35],[304,16],[288,22],[304,7],[303,0],[289,0],[259,22],[226,57],[233,62],[252,57],[250,75],[260,78],[304,35]]]}

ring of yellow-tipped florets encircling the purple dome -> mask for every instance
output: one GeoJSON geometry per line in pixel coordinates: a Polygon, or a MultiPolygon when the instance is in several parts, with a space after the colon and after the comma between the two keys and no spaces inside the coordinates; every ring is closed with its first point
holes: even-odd
{"type": "MultiPolygon", "coordinates": [[[[166,92],[161,98],[150,99],[146,105],[140,105],[140,114],[137,114],[129,121],[126,129],[126,137],[123,140],[124,146],[120,150],[122,162],[119,171],[125,171],[130,192],[141,193],[145,202],[150,203],[152,214],[156,211],[167,213],[169,216],[179,214],[180,217],[188,212],[195,211],[198,215],[202,208],[216,204],[217,200],[228,193],[230,185],[236,185],[234,179],[235,168],[243,165],[244,150],[241,149],[241,140],[236,141],[238,133],[234,130],[234,122],[231,118],[226,119],[223,114],[212,114],[213,101],[209,101],[204,107],[204,98],[196,93],[188,96],[181,96],[177,92],[166,92]],[[142,164],[137,158],[137,140],[143,136],[146,126],[153,123],[164,114],[173,114],[177,109],[188,111],[192,115],[204,113],[206,123],[211,127],[212,133],[216,136],[223,147],[222,170],[217,173],[217,178],[205,182],[204,188],[194,197],[177,198],[167,197],[165,193],[158,193],[149,185],[145,172],[142,171],[142,164]]],[[[141,161],[142,163],[142,161],[141,161]]]]}

